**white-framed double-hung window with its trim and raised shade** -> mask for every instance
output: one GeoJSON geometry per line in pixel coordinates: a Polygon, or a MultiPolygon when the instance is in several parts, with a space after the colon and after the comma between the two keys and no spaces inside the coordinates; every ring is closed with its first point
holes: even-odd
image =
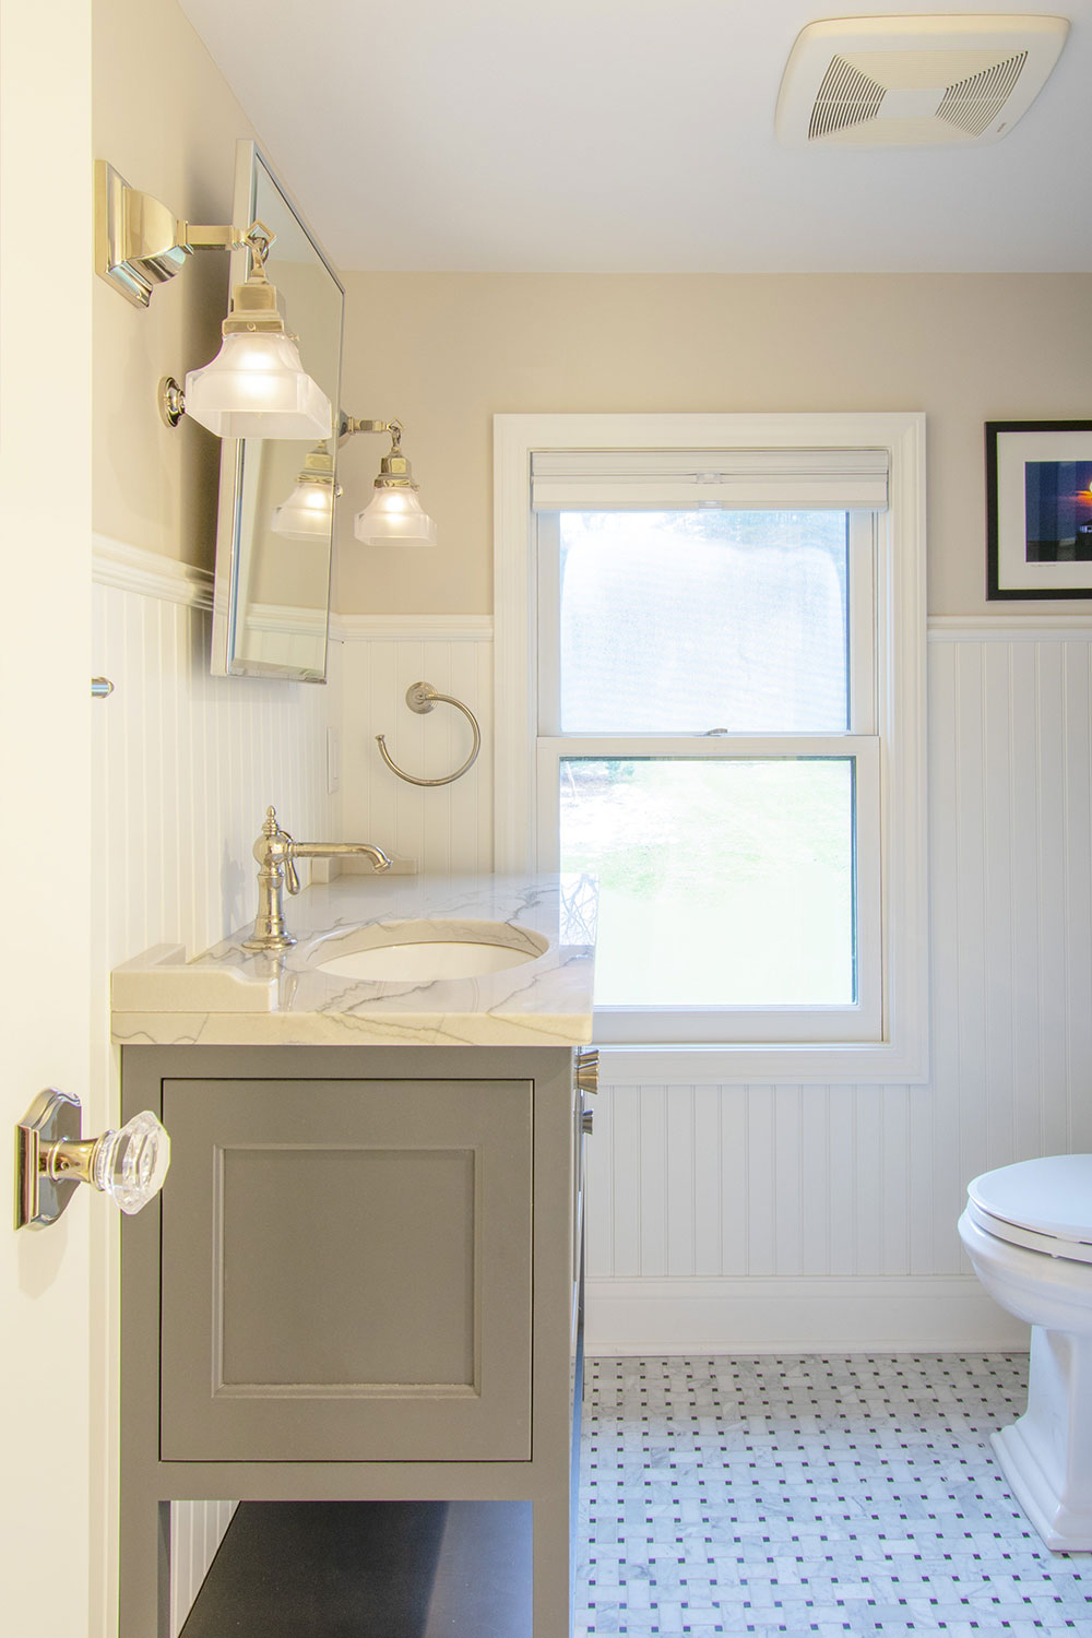
{"type": "Polygon", "coordinates": [[[920,432],[498,418],[498,863],[598,878],[642,1079],[923,1071],[920,432]]]}

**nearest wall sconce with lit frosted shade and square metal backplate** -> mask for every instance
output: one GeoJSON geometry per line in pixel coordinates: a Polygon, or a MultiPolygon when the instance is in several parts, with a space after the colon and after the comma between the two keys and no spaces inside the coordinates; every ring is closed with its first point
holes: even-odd
{"type": "Polygon", "coordinates": [[[218,437],[329,437],[331,401],[300,360],[296,337],[285,329],[277,290],[265,277],[273,234],[260,221],[249,228],[193,226],[149,193],[131,188],[100,159],[95,164],[95,265],[134,306],[147,306],[157,283],[174,278],[198,249],[247,247],[250,275],[236,285],[223,323],[223,346],[185,390],[172,375],[159,385],[167,426],[183,414],[218,437]]]}

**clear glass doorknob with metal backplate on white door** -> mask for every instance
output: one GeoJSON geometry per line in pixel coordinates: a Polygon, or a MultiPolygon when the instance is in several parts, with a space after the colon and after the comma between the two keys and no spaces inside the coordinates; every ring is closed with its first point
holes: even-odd
{"type": "Polygon", "coordinates": [[[80,1101],[47,1088],[15,1129],[15,1227],[44,1228],[57,1220],[75,1186],[90,1183],[131,1217],[164,1186],[170,1137],[151,1109],[116,1132],[80,1137],[80,1101]]]}

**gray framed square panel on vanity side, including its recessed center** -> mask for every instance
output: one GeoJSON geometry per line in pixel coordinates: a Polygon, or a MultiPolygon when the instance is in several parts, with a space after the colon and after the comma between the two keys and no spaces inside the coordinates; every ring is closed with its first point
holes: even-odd
{"type": "Polygon", "coordinates": [[[530,1458],[530,1081],[164,1081],[160,1455],[530,1458]]]}

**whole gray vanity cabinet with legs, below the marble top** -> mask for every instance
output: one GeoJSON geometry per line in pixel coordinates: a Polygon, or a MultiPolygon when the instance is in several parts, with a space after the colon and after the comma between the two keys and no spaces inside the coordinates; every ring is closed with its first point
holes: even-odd
{"type": "Polygon", "coordinates": [[[172,1168],[123,1228],[121,1638],[218,1497],[530,1502],[526,1635],[566,1638],[571,1050],[126,1047],[123,1104],[172,1168]]]}

